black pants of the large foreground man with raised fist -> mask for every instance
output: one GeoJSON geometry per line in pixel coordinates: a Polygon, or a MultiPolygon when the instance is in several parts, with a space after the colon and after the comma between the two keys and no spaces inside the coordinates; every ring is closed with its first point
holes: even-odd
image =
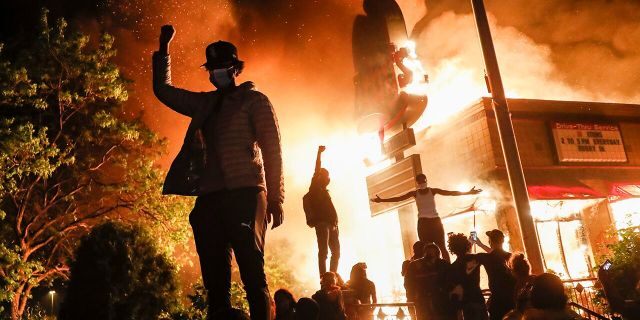
{"type": "MultiPolygon", "coordinates": [[[[231,308],[231,252],[240,267],[252,320],[268,320],[269,288],[264,274],[266,197],[258,188],[199,196],[189,215],[202,280],[209,296],[208,319],[231,308]]],[[[220,318],[221,319],[221,318],[220,318]]]]}

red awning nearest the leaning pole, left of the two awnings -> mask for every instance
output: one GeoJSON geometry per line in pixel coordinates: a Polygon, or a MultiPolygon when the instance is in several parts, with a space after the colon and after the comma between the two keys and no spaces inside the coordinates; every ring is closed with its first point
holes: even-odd
{"type": "Polygon", "coordinates": [[[607,196],[575,179],[549,176],[527,176],[531,200],[596,199],[607,196]]]}

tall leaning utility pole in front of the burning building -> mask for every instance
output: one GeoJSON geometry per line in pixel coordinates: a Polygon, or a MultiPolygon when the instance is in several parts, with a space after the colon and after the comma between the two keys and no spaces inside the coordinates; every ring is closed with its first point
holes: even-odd
{"type": "Polygon", "coordinates": [[[491,37],[491,29],[487,19],[487,12],[484,7],[484,0],[471,0],[473,14],[478,28],[478,36],[482,45],[482,55],[486,67],[489,89],[491,91],[491,102],[493,112],[498,124],[498,133],[500,135],[500,144],[502,145],[502,153],[504,154],[504,162],[509,176],[509,184],[511,186],[511,194],[515,204],[518,223],[522,233],[522,241],[527,252],[527,258],[531,264],[534,274],[544,272],[542,253],[536,234],[535,222],[531,216],[531,207],[529,206],[529,194],[527,193],[527,184],[522,171],[522,163],[520,162],[520,154],[518,153],[518,145],[511,123],[511,114],[507,98],[505,97],[504,87],[502,86],[502,78],[500,77],[500,69],[498,68],[498,60],[496,58],[495,48],[493,47],[493,39],[491,37]]]}

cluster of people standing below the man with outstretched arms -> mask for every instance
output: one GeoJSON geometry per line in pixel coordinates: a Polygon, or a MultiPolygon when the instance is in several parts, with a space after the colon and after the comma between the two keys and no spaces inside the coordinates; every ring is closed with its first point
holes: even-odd
{"type": "Polygon", "coordinates": [[[558,276],[533,276],[523,254],[503,249],[500,230],[486,235],[488,246],[475,235],[450,233],[451,264],[437,245],[416,243],[403,271],[407,300],[415,304],[418,319],[581,319],[569,309],[558,276]],[[486,252],[471,253],[474,244],[486,252]],[[487,274],[488,292],[480,287],[480,267],[487,274]]]}

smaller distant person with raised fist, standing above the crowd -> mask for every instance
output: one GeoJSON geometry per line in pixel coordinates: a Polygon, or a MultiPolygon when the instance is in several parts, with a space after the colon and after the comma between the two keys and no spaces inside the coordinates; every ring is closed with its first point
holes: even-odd
{"type": "Polygon", "coordinates": [[[329,271],[337,272],[340,260],[338,214],[333,206],[333,201],[331,201],[329,190],[327,190],[331,178],[329,177],[329,171],[322,168],[322,153],[325,150],[325,146],[318,147],[316,167],[308,193],[311,201],[310,207],[313,212],[313,227],[316,229],[318,240],[318,270],[320,271],[320,276],[327,271],[329,249],[331,250],[329,271]]]}

